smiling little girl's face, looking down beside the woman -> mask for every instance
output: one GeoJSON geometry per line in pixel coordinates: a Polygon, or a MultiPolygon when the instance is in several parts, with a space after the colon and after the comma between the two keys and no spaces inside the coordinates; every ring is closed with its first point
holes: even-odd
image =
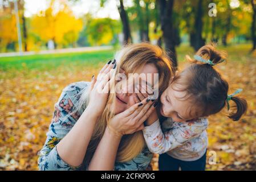
{"type": "Polygon", "coordinates": [[[161,95],[161,115],[172,118],[173,121],[176,122],[185,122],[196,118],[193,103],[190,99],[185,99],[185,96],[185,91],[174,90],[172,86],[169,85],[161,95]]]}

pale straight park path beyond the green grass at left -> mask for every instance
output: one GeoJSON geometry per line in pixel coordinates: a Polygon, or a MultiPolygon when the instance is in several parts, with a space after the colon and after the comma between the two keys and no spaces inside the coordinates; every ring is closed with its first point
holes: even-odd
{"type": "Polygon", "coordinates": [[[46,55],[46,54],[52,54],[52,53],[104,51],[104,50],[109,50],[109,49],[113,49],[113,46],[64,48],[64,49],[43,50],[43,51],[29,51],[29,52],[22,52],[22,53],[20,53],[20,52],[8,52],[8,53],[0,53],[0,57],[46,55]]]}

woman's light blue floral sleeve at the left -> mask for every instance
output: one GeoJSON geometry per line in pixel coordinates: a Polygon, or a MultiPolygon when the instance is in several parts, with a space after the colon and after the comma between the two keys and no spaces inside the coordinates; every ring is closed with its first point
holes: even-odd
{"type": "Polygon", "coordinates": [[[58,102],[55,104],[55,111],[47,132],[46,142],[42,150],[39,151],[38,167],[40,170],[75,170],[78,167],[72,167],[64,162],[56,150],[56,144],[72,129],[79,118],[78,111],[74,112],[75,100],[72,94],[78,92],[78,87],[74,84],[68,85],[63,89],[58,102]]]}

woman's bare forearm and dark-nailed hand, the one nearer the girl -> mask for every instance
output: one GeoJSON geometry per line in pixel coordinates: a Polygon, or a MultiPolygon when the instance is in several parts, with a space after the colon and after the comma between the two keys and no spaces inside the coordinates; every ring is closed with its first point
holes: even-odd
{"type": "Polygon", "coordinates": [[[147,102],[147,99],[145,99],[140,103],[129,107],[129,109],[111,119],[92,157],[88,167],[89,170],[114,169],[121,137],[143,129],[144,121],[155,110],[152,101],[147,102]]]}

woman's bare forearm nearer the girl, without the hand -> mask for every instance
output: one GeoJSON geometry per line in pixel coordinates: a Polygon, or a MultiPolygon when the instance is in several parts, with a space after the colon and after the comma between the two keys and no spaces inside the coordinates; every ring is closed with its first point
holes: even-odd
{"type": "Polygon", "coordinates": [[[112,133],[108,127],[96,148],[88,167],[89,170],[113,170],[121,137],[112,133]]]}

